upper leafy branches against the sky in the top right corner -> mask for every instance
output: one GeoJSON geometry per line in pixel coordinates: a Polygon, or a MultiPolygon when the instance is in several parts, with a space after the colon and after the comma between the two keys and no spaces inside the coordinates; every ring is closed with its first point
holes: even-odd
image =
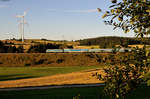
{"type": "Polygon", "coordinates": [[[133,30],[137,36],[150,34],[150,0],[112,0],[110,10],[102,16],[109,17],[106,24],[125,33],[133,30]],[[111,17],[111,20],[109,20],[111,17]]]}

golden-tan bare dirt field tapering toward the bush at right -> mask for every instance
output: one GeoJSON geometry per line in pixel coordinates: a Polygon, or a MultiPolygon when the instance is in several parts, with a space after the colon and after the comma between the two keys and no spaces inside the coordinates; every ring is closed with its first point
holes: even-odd
{"type": "Polygon", "coordinates": [[[96,72],[103,73],[103,70],[95,69],[83,72],[73,72],[69,74],[59,74],[40,78],[1,81],[0,88],[102,83],[102,81],[99,81],[96,77],[92,76],[96,72]]]}

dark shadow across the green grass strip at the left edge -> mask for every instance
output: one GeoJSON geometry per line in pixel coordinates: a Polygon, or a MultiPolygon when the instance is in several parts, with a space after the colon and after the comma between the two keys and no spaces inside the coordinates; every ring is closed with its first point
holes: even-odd
{"type": "Polygon", "coordinates": [[[27,79],[27,78],[35,78],[35,76],[29,76],[25,74],[0,75],[0,81],[18,80],[18,79],[27,79]]]}

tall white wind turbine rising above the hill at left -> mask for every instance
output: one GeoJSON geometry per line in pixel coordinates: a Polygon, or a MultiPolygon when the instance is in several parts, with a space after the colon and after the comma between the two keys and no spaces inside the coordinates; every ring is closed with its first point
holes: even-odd
{"type": "Polygon", "coordinates": [[[26,16],[27,12],[24,11],[23,15],[17,15],[17,18],[21,18],[21,22],[19,23],[19,30],[20,30],[20,34],[21,34],[21,40],[22,42],[24,42],[24,25],[26,24],[25,22],[25,16],[26,16]]]}

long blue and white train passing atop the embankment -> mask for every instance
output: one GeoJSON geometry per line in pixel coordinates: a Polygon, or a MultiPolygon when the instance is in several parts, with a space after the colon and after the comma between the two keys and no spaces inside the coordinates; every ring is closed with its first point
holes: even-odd
{"type": "Polygon", "coordinates": [[[130,52],[129,48],[121,49],[47,49],[46,53],[100,53],[100,52],[130,52]]]}

